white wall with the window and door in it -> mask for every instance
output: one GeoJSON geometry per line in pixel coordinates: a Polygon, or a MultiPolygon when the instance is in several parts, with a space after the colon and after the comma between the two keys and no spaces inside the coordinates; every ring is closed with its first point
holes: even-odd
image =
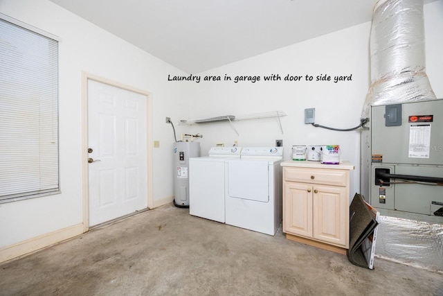
{"type": "Polygon", "coordinates": [[[2,0],[0,12],[61,39],[62,188],[58,195],[0,204],[0,251],[1,247],[82,223],[82,71],[152,94],[153,139],[160,141],[160,148],[153,150],[154,206],[172,201],[170,155],[174,140],[165,116],[177,118],[181,110],[189,109],[188,95],[183,93],[188,94],[190,87],[171,87],[167,77],[168,73],[183,72],[50,1],[2,0]]]}

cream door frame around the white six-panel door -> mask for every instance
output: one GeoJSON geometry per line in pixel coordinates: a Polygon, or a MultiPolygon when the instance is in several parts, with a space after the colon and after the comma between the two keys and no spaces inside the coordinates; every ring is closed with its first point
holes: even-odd
{"type": "Polygon", "coordinates": [[[153,190],[152,190],[152,94],[141,89],[136,89],[129,85],[123,85],[119,82],[95,76],[91,73],[82,72],[82,198],[83,198],[83,232],[89,231],[89,164],[88,164],[88,148],[89,148],[89,101],[88,101],[88,80],[125,89],[129,92],[141,94],[146,97],[146,146],[147,146],[147,209],[152,209],[153,190]]]}

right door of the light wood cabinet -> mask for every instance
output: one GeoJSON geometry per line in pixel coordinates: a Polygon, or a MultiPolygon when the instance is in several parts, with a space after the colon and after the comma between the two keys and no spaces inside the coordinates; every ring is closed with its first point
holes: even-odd
{"type": "Polygon", "coordinates": [[[349,211],[346,187],[314,186],[313,237],[335,245],[349,246],[349,211]]]}

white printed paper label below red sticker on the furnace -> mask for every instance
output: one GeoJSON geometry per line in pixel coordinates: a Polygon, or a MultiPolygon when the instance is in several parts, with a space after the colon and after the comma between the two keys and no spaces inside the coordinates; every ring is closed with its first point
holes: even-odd
{"type": "Polygon", "coordinates": [[[429,158],[431,124],[411,124],[409,128],[409,158],[429,158]]]}

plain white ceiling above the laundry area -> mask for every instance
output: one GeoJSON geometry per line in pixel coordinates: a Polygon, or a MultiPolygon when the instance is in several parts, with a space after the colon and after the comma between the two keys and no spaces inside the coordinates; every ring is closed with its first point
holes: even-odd
{"type": "Polygon", "coordinates": [[[377,2],[50,1],[186,73],[214,69],[370,21],[377,2]]]}

